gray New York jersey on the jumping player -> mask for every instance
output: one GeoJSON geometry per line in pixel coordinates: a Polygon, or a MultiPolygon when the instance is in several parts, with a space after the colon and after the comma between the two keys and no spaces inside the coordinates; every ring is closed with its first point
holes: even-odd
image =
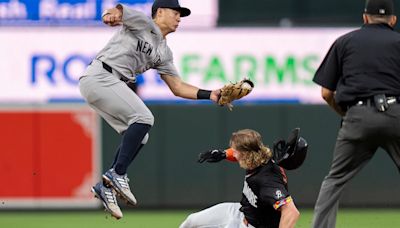
{"type": "Polygon", "coordinates": [[[142,12],[122,6],[122,28],[97,54],[97,59],[128,79],[148,69],[178,76],[173,56],[160,28],[142,12]]]}

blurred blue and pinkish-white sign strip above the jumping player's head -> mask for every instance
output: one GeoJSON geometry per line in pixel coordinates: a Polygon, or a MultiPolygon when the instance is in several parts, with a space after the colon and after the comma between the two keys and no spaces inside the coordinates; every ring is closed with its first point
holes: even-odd
{"type": "MultiPolygon", "coordinates": [[[[151,17],[153,0],[0,0],[2,26],[100,26],[101,15],[117,4],[151,17]]],[[[213,27],[218,18],[217,0],[181,0],[192,10],[182,27],[213,27]]]]}

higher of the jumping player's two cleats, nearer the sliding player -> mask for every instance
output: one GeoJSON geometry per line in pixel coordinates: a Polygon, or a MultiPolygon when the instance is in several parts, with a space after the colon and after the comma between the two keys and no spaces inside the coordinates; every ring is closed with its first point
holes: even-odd
{"type": "Polygon", "coordinates": [[[103,174],[103,181],[105,185],[112,187],[118,193],[118,196],[126,200],[128,204],[133,206],[137,204],[136,198],[129,187],[129,179],[126,174],[118,175],[114,169],[109,169],[103,174]]]}

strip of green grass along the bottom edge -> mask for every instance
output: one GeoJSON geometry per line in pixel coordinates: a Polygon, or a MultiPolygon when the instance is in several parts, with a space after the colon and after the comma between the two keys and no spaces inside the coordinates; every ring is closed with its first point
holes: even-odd
{"type": "MultiPolygon", "coordinates": [[[[124,211],[115,220],[103,211],[0,211],[1,228],[176,228],[193,211],[124,211]]],[[[301,210],[297,228],[309,228],[312,210],[301,210]]],[[[400,209],[341,209],[337,228],[400,227],[400,209]]]]}

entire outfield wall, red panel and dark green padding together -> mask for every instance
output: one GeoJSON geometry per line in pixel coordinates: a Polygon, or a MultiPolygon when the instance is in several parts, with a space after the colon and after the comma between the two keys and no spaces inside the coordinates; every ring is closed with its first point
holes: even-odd
{"type": "MultiPolygon", "coordinates": [[[[199,152],[224,149],[233,131],[252,128],[272,145],[300,127],[310,147],[288,171],[300,207],[312,206],[327,174],[340,119],[325,105],[149,105],[156,117],[148,144],[129,168],[141,208],[205,207],[238,201],[243,170],[236,163],[196,162],[199,152]]],[[[1,107],[0,210],[93,208],[91,185],[113,161],[120,136],[84,104],[1,107]]],[[[384,151],[346,188],[342,206],[400,206],[398,171],[384,151]]]]}

